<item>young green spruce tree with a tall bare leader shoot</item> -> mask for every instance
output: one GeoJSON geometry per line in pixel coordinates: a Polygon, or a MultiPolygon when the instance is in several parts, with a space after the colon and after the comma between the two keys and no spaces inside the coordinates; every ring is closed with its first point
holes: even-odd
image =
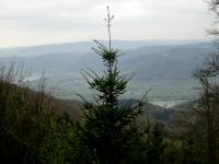
{"type": "Polygon", "coordinates": [[[93,48],[104,63],[103,75],[92,70],[82,72],[90,87],[97,91],[97,95],[94,104],[83,105],[84,119],[79,124],[79,137],[90,154],[95,156],[93,163],[135,163],[139,160],[137,150],[141,142],[136,118],[142,110],[139,105],[122,106],[119,103],[120,95],[126,92],[128,79],[117,68],[119,50],[112,48],[113,19],[107,7],[107,17],[104,20],[108,30],[108,47],[95,40],[97,47],[93,48]]]}

